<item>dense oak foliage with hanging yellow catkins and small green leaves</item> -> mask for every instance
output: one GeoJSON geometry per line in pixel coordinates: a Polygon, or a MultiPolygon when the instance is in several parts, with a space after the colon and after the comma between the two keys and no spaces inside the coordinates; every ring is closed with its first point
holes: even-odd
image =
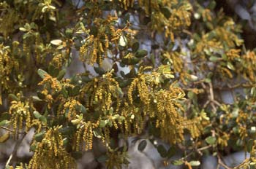
{"type": "Polygon", "coordinates": [[[158,146],[166,165],[192,168],[209,153],[221,163],[243,149],[250,158],[238,168],[253,168],[256,53],[246,50],[241,25],[215,6],[0,2],[0,127],[7,130],[0,141],[35,128],[34,155],[17,168],[75,168],[95,139],[107,149],[99,157],[107,168],[121,168],[127,154],[117,142],[129,135],[167,141],[170,149],[158,146]],[[68,77],[75,51],[86,71],[68,77]],[[184,156],[168,160],[176,149],[184,156]]]}

